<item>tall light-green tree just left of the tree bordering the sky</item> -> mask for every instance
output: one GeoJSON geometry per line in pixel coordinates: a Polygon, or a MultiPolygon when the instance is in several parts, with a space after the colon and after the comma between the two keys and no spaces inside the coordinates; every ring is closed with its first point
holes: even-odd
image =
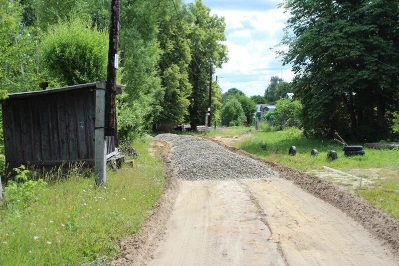
{"type": "Polygon", "coordinates": [[[188,115],[188,98],[192,89],[188,73],[191,51],[187,32],[190,24],[183,2],[175,0],[175,5],[182,17],[177,17],[174,6],[168,2],[162,6],[163,15],[159,23],[158,40],[162,49],[159,67],[165,95],[160,103],[163,110],[156,120],[180,124],[188,115]]]}

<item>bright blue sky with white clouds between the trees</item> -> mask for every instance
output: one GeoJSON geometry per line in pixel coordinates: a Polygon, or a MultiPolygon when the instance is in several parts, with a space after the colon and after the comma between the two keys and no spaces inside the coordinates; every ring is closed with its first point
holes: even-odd
{"type": "MultiPolygon", "coordinates": [[[[194,0],[184,0],[186,3],[194,0]]],[[[229,60],[216,69],[223,92],[235,87],[247,96],[264,95],[271,76],[291,81],[291,66],[271,50],[282,36],[289,14],[277,8],[281,0],[203,0],[211,14],[224,16],[229,60]],[[281,71],[281,69],[283,69],[281,71]]]]}

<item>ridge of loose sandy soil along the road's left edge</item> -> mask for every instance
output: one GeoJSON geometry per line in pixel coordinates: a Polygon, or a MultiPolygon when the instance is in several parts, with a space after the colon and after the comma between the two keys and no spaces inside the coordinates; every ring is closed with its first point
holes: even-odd
{"type": "Polygon", "coordinates": [[[108,266],[146,265],[152,258],[158,242],[162,239],[167,227],[175,200],[179,192],[179,182],[169,160],[170,144],[166,141],[154,141],[158,146],[158,156],[165,168],[165,186],[152,212],[148,215],[140,231],[120,243],[122,253],[114,258],[108,266]]]}

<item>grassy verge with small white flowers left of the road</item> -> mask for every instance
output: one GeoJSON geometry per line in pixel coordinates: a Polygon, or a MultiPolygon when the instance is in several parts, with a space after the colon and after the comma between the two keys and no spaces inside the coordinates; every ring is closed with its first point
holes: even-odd
{"type": "Polygon", "coordinates": [[[97,265],[120,253],[118,240],[136,233],[164,185],[162,162],[151,142],[135,143],[136,166],[94,177],[49,183],[22,211],[0,214],[0,265],[97,265]]]}

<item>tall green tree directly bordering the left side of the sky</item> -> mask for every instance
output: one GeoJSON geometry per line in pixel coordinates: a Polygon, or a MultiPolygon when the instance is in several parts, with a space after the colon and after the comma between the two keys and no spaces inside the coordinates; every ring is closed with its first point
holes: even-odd
{"type": "Polygon", "coordinates": [[[207,112],[209,69],[221,68],[227,61],[227,48],[221,41],[224,35],[225,23],[223,17],[210,15],[210,9],[203,5],[202,0],[189,4],[191,13],[191,30],[189,33],[192,60],[189,65],[189,80],[193,86],[190,99],[190,124],[197,130],[198,124],[203,124],[207,112]]]}

